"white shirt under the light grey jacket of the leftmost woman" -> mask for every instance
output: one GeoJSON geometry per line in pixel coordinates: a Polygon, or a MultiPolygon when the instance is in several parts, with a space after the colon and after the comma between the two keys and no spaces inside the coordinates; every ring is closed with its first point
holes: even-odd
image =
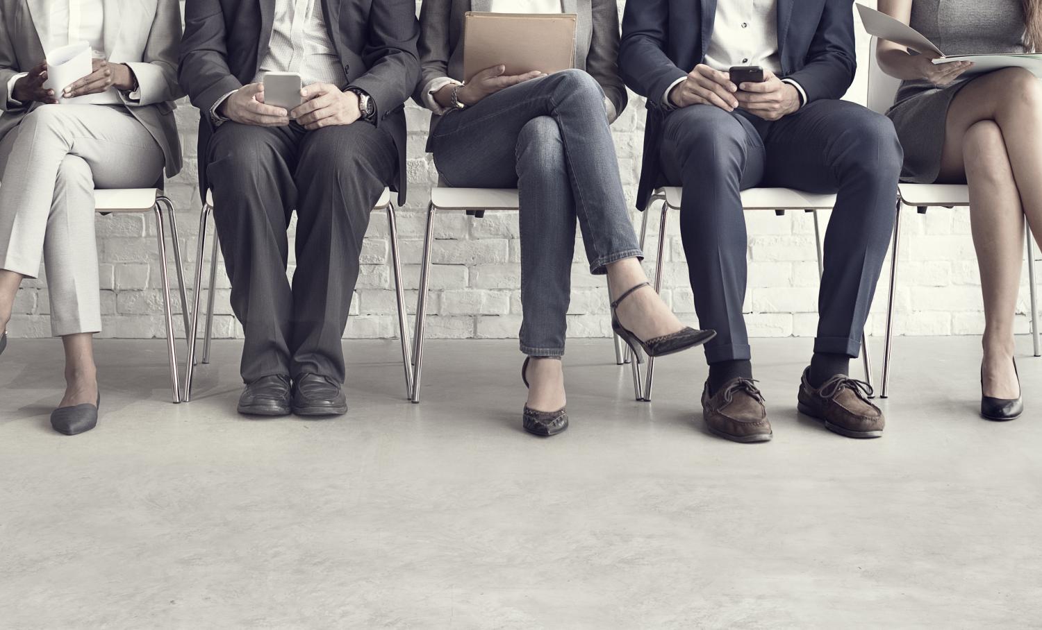
{"type": "MultiPolygon", "coordinates": [[[[69,0],[68,2],[56,1],[48,3],[50,10],[47,14],[47,24],[41,30],[46,33],[46,42],[41,42],[45,51],[61,48],[73,42],[86,42],[91,45],[91,50],[105,53],[104,34],[104,5],[102,0],[69,0]]],[[[27,72],[17,74],[7,81],[7,94],[15,90],[15,82],[28,75],[27,72]]],[[[63,85],[64,87],[64,85],[63,85]]],[[[60,95],[55,95],[60,96],[60,95]]],[[[130,98],[138,99],[137,93],[130,98]]],[[[8,102],[14,105],[21,105],[20,102],[8,97],[8,102]]],[[[115,87],[109,87],[98,94],[89,94],[76,97],[77,104],[101,104],[119,105],[122,103],[115,87]]]]}

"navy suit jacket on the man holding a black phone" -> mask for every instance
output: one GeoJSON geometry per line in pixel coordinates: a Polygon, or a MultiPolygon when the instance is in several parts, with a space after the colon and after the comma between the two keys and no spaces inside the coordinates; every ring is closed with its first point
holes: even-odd
{"type": "MultiPolygon", "coordinates": [[[[726,1],[726,0],[724,0],[726,1]]],[[[637,205],[644,209],[653,188],[664,185],[659,165],[661,103],[670,84],[704,62],[717,0],[630,0],[622,20],[619,73],[647,97],[644,165],[637,205]]],[[[777,0],[782,78],[791,78],[808,102],[842,98],[857,69],[853,0],[777,0]]]]}

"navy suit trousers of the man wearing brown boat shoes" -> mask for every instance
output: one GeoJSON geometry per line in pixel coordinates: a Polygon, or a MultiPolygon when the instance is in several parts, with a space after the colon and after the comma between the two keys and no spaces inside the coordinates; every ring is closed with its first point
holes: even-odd
{"type": "Polygon", "coordinates": [[[667,115],[662,165],[684,186],[680,233],[708,362],[749,359],[741,191],[837,193],[824,244],[815,352],[858,356],[894,227],[901,147],[886,117],[821,100],[778,121],[693,105],[667,115]]]}

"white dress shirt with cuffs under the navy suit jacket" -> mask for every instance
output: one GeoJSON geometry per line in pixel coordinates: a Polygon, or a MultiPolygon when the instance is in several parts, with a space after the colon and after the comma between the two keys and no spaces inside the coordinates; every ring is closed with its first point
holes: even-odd
{"type": "MultiPolygon", "coordinates": [[[[718,0],[713,34],[705,50],[705,65],[727,72],[733,66],[760,66],[775,75],[782,72],[778,55],[777,0],[718,0]]],[[[782,79],[799,92],[800,103],[807,93],[792,79],[782,79]]],[[[663,96],[671,107],[669,94],[685,81],[673,81],[663,96]]]]}

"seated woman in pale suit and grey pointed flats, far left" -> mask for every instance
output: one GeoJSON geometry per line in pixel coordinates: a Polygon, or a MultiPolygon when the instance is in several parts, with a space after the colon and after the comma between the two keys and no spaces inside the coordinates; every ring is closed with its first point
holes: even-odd
{"type": "Polygon", "coordinates": [[[51,414],[61,433],[94,428],[101,401],[94,188],[154,186],[181,168],[180,34],[177,0],[0,0],[0,353],[18,287],[43,258],[66,352],[51,414]],[[45,54],[75,42],[94,50],[93,72],[49,89],[45,54]]]}

